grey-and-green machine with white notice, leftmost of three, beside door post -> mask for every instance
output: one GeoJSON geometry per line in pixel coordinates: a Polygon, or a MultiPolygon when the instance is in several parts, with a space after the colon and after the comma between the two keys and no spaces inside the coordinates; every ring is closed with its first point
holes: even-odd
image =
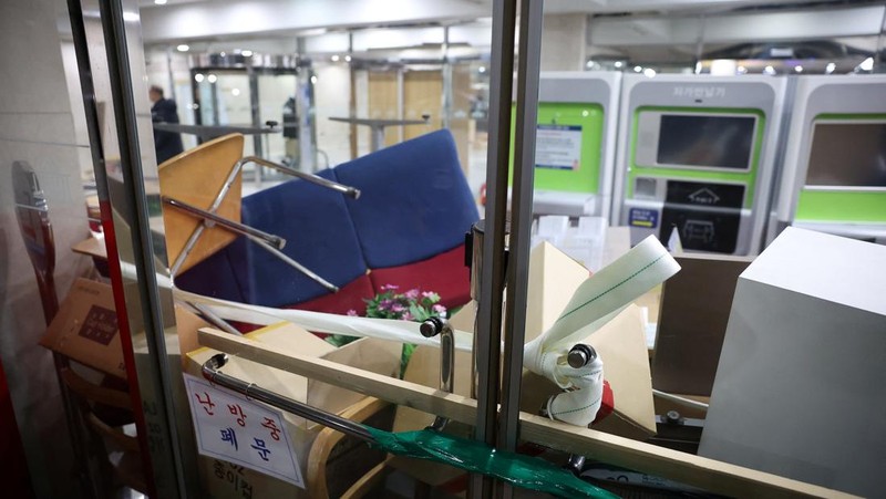
{"type": "Polygon", "coordinates": [[[617,72],[540,74],[535,215],[609,218],[620,83],[617,72]]]}

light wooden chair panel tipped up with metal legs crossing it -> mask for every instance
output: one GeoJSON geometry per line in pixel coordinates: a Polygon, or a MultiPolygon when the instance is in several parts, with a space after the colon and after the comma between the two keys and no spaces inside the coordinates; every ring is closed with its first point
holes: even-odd
{"type": "MultiPolygon", "coordinates": [[[[243,157],[243,135],[230,134],[168,159],[159,165],[161,194],[208,210],[231,168],[243,157]]],[[[240,221],[241,186],[241,175],[238,175],[216,210],[219,216],[240,221]]],[[[166,251],[172,266],[184,250],[190,235],[203,221],[166,205],[163,205],[163,221],[166,251]]],[[[219,227],[205,230],[178,272],[194,267],[236,238],[236,233],[219,227]]]]}

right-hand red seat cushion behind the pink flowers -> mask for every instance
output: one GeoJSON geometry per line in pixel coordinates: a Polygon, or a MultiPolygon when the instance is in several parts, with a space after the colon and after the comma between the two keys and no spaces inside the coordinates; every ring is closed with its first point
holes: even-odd
{"type": "Polygon", "coordinates": [[[377,293],[381,292],[382,285],[393,284],[400,287],[401,292],[413,288],[433,291],[440,294],[440,303],[446,309],[471,301],[471,276],[464,264],[464,245],[414,263],[372,269],[369,277],[377,293]]]}

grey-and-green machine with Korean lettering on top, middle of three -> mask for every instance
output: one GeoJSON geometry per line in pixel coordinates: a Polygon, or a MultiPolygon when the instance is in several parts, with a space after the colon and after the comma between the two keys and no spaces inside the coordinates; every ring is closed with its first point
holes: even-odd
{"type": "Polygon", "coordinates": [[[625,76],[612,223],[631,243],[756,254],[766,221],[786,80],[625,76]]]}

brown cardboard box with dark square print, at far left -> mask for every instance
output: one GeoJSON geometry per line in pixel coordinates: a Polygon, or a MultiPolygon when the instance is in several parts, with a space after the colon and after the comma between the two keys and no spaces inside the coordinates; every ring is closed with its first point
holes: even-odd
{"type": "MultiPolygon", "coordinates": [[[[175,306],[177,340],[182,352],[197,347],[197,330],[208,326],[198,316],[175,306]]],[[[109,284],[78,279],[62,301],[59,313],[40,344],[83,365],[125,380],[126,365],[120,342],[114,292],[109,284]]],[[[171,352],[176,345],[169,345],[171,352]]],[[[136,347],[136,351],[138,349],[136,347]]]]}

